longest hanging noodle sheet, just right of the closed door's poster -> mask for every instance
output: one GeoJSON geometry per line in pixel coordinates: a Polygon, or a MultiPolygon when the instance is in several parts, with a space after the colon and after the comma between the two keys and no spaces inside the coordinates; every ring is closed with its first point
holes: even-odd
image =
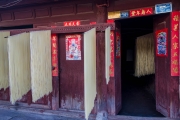
{"type": "Polygon", "coordinates": [[[88,120],[94,107],[96,93],[96,29],[93,28],[84,33],[84,107],[86,120],[88,120]]]}

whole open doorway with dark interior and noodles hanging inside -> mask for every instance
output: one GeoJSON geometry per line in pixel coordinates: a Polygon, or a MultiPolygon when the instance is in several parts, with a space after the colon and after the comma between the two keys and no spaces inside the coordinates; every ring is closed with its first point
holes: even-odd
{"type": "Polygon", "coordinates": [[[163,117],[156,111],[153,18],[117,21],[122,43],[122,109],[119,115],[163,117]]]}

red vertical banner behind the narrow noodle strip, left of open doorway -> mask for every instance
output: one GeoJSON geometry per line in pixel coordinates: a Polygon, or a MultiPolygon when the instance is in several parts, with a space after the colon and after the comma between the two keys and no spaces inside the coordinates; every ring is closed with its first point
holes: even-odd
{"type": "Polygon", "coordinates": [[[109,67],[110,77],[114,77],[114,31],[110,33],[110,44],[111,44],[111,65],[109,67]]]}

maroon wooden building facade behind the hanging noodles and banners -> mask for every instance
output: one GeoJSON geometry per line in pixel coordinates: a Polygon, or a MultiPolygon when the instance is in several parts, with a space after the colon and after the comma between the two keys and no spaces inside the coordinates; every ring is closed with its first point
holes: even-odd
{"type": "MultiPolygon", "coordinates": [[[[172,3],[172,12],[179,12],[180,17],[179,0],[23,0],[15,6],[0,8],[0,30],[9,30],[10,35],[47,29],[58,35],[59,72],[57,76],[52,76],[53,92],[33,103],[32,92],[29,91],[13,106],[16,109],[27,107],[44,111],[52,110],[52,113],[53,111],[56,113],[72,111],[77,114],[83,112],[84,51],[82,50],[80,61],[68,63],[63,57],[65,56],[64,39],[66,35],[78,33],[82,37],[81,44],[83,44],[83,33],[96,28],[97,96],[92,114],[107,111],[109,115],[117,115],[122,108],[121,57],[114,57],[114,77],[110,77],[109,83],[106,84],[104,31],[110,26],[111,30],[121,34],[121,21],[120,18],[116,18],[113,22],[107,23],[108,12],[154,9],[156,4],[169,2],[172,3]],[[78,26],[75,25],[76,22],[78,26]]],[[[6,3],[5,0],[0,0],[0,6],[6,3]]],[[[179,76],[171,75],[172,12],[150,15],[154,19],[153,31],[168,28],[168,56],[155,57],[156,109],[166,117],[180,118],[179,76]]],[[[131,17],[124,20],[126,19],[131,17]]],[[[114,46],[116,46],[115,42],[114,46]]],[[[9,108],[11,106],[9,101],[9,88],[0,90],[0,105],[9,108]]]]}

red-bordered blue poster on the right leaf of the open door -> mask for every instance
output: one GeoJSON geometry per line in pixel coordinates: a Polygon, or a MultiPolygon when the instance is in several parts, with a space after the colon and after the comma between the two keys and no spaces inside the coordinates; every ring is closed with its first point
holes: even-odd
{"type": "Polygon", "coordinates": [[[156,31],[156,56],[167,56],[167,32],[167,28],[156,31]]]}

